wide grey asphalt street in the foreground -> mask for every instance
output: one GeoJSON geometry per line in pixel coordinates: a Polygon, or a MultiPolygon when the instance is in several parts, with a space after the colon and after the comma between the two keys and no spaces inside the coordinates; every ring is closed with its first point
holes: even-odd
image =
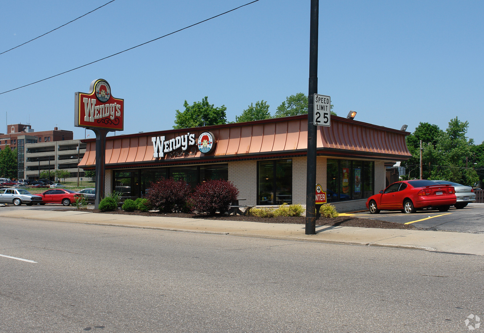
{"type": "Polygon", "coordinates": [[[454,333],[484,318],[481,256],[5,218],[0,230],[1,255],[35,261],[0,257],[0,332],[454,333]]]}

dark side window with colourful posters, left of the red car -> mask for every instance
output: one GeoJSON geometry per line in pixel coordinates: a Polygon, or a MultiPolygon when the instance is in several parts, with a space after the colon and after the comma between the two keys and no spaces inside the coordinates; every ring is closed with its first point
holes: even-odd
{"type": "Polygon", "coordinates": [[[327,159],[326,165],[328,202],[373,196],[374,162],[327,159]]]}

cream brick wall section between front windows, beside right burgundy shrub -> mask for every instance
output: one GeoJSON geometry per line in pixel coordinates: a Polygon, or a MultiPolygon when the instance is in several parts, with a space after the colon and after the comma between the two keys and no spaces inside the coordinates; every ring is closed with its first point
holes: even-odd
{"type": "Polygon", "coordinates": [[[241,205],[257,204],[257,161],[229,162],[228,180],[239,190],[239,197],[247,199],[241,205]]]}

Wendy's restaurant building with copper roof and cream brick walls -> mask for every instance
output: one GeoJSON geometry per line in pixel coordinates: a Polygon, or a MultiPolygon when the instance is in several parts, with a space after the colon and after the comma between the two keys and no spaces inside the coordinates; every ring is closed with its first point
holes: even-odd
{"type": "MultiPolygon", "coordinates": [[[[338,212],[365,210],[366,198],[385,188],[385,163],[411,157],[409,133],[342,117],[318,126],[316,181],[338,212]]],[[[240,204],[306,202],[307,114],[137,133],[106,138],[105,194],[143,197],[151,182],[183,179],[192,188],[225,179],[239,189],[240,204]]],[[[79,166],[94,170],[95,139],[82,140],[79,166]]]]}

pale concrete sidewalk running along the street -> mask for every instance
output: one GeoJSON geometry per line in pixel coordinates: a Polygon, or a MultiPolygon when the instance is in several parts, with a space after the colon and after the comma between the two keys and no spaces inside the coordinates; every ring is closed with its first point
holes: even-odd
{"type": "Polygon", "coordinates": [[[316,235],[305,235],[304,225],[298,224],[76,211],[8,210],[0,211],[0,217],[484,255],[484,234],[461,232],[316,226],[316,235]]]}

